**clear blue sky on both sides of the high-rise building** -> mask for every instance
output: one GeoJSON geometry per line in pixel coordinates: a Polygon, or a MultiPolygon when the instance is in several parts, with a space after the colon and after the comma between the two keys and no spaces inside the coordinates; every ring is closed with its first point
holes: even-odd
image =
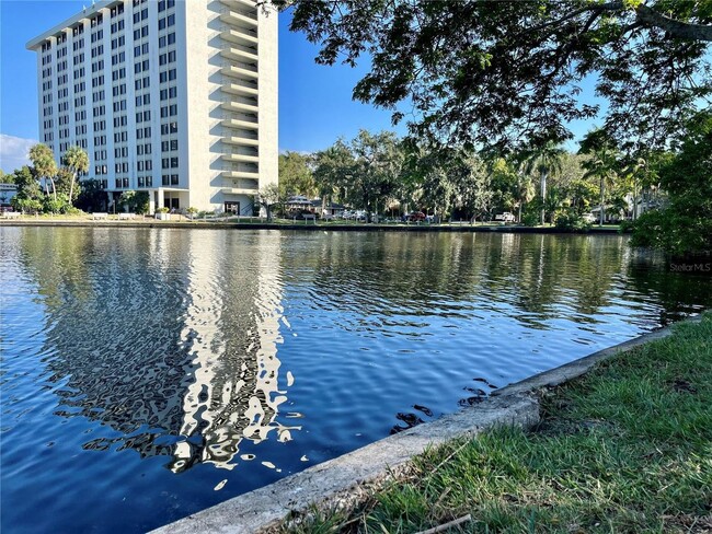
{"type": "MultiPolygon", "coordinates": [[[[35,53],[25,43],[81,11],[91,0],[0,0],[0,167],[12,172],[36,142],[37,81],[35,53]]],[[[289,15],[279,20],[279,149],[315,151],[340,136],[351,139],[360,128],[391,127],[391,114],[352,101],[352,90],[367,66],[322,67],[318,48],[302,34],[288,31],[289,15]]],[[[574,128],[581,137],[589,124],[574,128]]],[[[573,149],[573,146],[571,147],[573,149]]]]}

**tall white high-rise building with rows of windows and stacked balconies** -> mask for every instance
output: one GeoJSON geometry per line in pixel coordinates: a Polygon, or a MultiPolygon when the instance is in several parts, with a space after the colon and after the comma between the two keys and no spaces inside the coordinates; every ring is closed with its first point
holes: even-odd
{"type": "Polygon", "coordinates": [[[108,0],[27,43],[39,141],[114,201],[251,214],[277,181],[277,12],[255,0],[108,0]]]}

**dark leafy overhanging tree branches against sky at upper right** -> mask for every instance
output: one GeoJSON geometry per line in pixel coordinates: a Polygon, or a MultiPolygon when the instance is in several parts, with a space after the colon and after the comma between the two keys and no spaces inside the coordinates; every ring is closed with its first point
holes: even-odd
{"type": "Polygon", "coordinates": [[[354,97],[412,104],[417,137],[501,149],[570,138],[599,113],[579,102],[595,80],[605,129],[662,144],[712,93],[712,0],[274,0],[317,61],[371,70],[354,97]]]}

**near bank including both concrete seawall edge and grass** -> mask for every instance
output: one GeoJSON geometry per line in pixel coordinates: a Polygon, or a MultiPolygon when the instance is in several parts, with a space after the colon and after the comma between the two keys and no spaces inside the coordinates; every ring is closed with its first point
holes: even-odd
{"type": "Polygon", "coordinates": [[[476,407],[156,534],[407,533],[448,524],[562,533],[699,524],[704,532],[712,526],[710,384],[712,313],[512,384],[476,407]]]}

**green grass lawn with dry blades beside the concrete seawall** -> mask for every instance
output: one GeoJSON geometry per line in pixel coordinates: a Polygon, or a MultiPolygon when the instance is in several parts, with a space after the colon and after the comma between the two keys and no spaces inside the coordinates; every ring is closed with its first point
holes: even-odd
{"type": "Polygon", "coordinates": [[[284,532],[712,532],[712,314],[539,392],[542,420],[428,451],[349,513],[284,532]]]}

